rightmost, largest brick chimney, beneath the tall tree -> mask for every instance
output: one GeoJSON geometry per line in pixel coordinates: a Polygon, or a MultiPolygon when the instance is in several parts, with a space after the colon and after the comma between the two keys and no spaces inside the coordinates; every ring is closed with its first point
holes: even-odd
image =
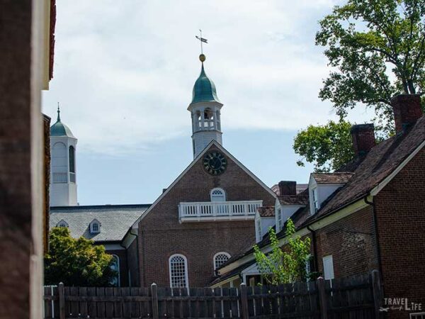
{"type": "Polygon", "coordinates": [[[402,132],[422,116],[420,94],[399,94],[391,99],[395,130],[402,132]]]}

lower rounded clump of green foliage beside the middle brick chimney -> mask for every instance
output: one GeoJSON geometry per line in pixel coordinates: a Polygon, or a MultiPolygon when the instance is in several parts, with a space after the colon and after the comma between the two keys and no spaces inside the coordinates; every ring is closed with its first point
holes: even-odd
{"type": "Polygon", "coordinates": [[[339,169],[354,157],[351,142],[351,123],[329,121],[326,125],[309,125],[294,138],[293,149],[303,160],[314,164],[315,172],[339,169]]]}

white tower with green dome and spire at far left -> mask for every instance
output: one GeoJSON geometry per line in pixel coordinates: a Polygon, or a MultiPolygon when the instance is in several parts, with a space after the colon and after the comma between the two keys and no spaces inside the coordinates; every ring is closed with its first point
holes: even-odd
{"type": "Polygon", "coordinates": [[[76,146],[77,138],[60,121],[57,106],[57,121],[50,128],[50,206],[77,205],[76,146]]]}

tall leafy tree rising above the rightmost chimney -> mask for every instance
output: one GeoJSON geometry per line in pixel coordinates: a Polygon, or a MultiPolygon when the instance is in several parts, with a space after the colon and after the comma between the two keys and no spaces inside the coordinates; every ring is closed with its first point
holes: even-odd
{"type": "Polygon", "coordinates": [[[425,87],[425,1],[348,0],[319,21],[316,44],[332,71],[319,92],[342,118],[361,102],[375,124],[393,128],[390,99],[425,87]]]}

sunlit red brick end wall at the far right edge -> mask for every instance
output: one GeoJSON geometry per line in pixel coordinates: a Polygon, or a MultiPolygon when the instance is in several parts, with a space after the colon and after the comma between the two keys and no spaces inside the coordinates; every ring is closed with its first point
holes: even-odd
{"type": "MultiPolygon", "coordinates": [[[[425,307],[425,150],[375,197],[385,297],[425,307]]],[[[391,318],[408,318],[392,311],[391,318]]]]}

